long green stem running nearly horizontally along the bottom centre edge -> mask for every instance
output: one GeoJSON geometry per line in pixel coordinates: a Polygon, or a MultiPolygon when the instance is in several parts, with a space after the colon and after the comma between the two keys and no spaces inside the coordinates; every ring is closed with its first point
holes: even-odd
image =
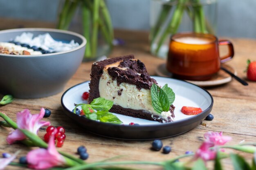
{"type": "Polygon", "coordinates": [[[86,170],[90,168],[95,168],[99,166],[115,166],[115,165],[129,165],[129,164],[144,164],[144,165],[156,165],[163,166],[163,162],[150,162],[150,161],[120,161],[120,162],[97,162],[88,163],[86,165],[74,166],[71,168],[66,168],[65,170],[86,170]]]}

